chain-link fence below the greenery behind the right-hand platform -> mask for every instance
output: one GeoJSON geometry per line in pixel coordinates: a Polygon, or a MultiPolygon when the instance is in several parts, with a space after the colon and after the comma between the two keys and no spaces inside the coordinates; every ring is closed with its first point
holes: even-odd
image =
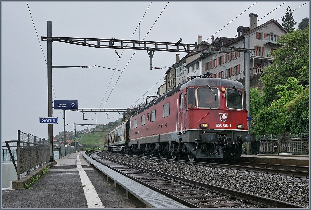
{"type": "Polygon", "coordinates": [[[259,135],[260,154],[309,155],[309,133],[288,135],[259,135]]]}

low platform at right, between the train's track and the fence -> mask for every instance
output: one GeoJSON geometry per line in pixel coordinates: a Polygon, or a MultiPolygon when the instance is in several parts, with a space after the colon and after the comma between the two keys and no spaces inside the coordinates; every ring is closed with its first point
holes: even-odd
{"type": "Polygon", "coordinates": [[[241,155],[240,161],[277,165],[309,166],[310,157],[308,155],[258,154],[241,155]]]}

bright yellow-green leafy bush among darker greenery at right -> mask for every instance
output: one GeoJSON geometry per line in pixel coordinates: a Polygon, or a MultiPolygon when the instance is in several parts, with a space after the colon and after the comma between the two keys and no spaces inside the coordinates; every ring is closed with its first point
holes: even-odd
{"type": "Polygon", "coordinates": [[[289,77],[288,82],[286,82],[285,85],[276,85],[275,89],[280,90],[277,94],[281,98],[277,101],[273,100],[271,104],[272,107],[284,106],[286,103],[295,99],[303,91],[302,85],[298,85],[298,80],[295,77],[289,77]]]}

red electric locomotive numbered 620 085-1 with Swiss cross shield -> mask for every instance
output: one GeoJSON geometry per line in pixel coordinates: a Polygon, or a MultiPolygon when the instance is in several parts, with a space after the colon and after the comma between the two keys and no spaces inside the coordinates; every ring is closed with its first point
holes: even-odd
{"type": "Polygon", "coordinates": [[[238,81],[194,78],[124,122],[123,133],[128,137],[118,149],[118,140],[109,139],[109,135],[105,146],[151,157],[188,156],[191,161],[239,158],[242,144],[255,141],[255,135],[248,134],[245,102],[245,90],[238,81]],[[109,141],[114,141],[114,146],[109,141]]]}

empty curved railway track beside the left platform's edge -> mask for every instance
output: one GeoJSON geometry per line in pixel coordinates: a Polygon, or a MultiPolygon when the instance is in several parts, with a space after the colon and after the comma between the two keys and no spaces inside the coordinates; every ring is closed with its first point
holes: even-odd
{"type": "Polygon", "coordinates": [[[307,208],[119,162],[99,152],[90,157],[190,208],[307,208]]]}

